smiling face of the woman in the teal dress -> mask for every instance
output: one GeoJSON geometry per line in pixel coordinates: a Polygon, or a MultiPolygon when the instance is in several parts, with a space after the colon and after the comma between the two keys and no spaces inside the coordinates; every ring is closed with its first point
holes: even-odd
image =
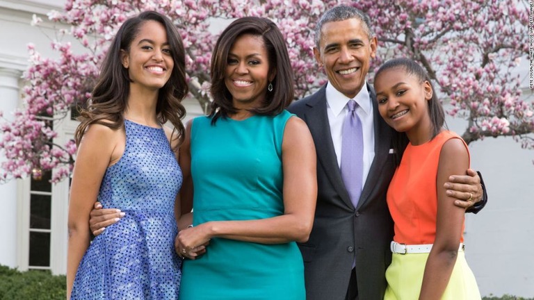
{"type": "MultiPolygon", "coordinates": [[[[235,108],[257,108],[264,101],[269,75],[269,60],[263,38],[245,34],[236,38],[228,53],[225,85],[235,108]]],[[[272,77],[272,78],[271,78],[272,77]]]]}

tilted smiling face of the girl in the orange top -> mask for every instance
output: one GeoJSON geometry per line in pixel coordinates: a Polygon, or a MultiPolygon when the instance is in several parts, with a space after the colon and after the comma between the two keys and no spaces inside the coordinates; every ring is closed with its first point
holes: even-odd
{"type": "Polygon", "coordinates": [[[432,87],[403,67],[386,69],[375,78],[376,100],[380,115],[396,131],[406,132],[412,144],[432,138],[428,101],[432,87]]]}

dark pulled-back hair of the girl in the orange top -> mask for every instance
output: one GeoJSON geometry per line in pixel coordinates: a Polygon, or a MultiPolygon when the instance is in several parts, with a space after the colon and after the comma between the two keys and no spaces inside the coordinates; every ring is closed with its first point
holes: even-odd
{"type": "MultiPolygon", "coordinates": [[[[425,81],[428,81],[430,83],[430,88],[432,88],[432,98],[430,101],[427,101],[428,103],[428,114],[430,115],[430,124],[432,125],[432,138],[435,138],[436,135],[440,131],[442,131],[442,128],[445,126],[445,113],[443,110],[442,103],[439,102],[437,99],[437,92],[434,89],[434,85],[432,85],[432,81],[430,80],[430,76],[428,76],[428,73],[421,67],[418,63],[416,63],[414,60],[411,60],[410,58],[395,58],[392,60],[388,60],[384,65],[380,66],[378,71],[375,74],[375,81],[382,72],[385,72],[388,69],[401,69],[408,75],[413,75],[417,79],[419,79],[420,83],[424,83],[425,81]]],[[[403,157],[404,150],[406,149],[406,145],[408,144],[408,137],[406,133],[401,132],[395,132],[393,135],[393,141],[392,146],[395,149],[396,157],[396,165],[399,165],[401,163],[401,158],[403,157]]]]}

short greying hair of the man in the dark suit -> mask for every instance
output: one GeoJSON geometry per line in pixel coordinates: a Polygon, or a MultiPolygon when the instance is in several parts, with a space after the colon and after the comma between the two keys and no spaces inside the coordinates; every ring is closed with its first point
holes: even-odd
{"type": "Polygon", "coordinates": [[[323,30],[324,24],[345,21],[346,19],[359,19],[364,24],[364,31],[367,33],[368,38],[375,36],[373,29],[371,29],[371,18],[369,18],[369,15],[352,6],[336,6],[327,10],[317,22],[315,26],[315,47],[321,49],[321,31],[323,30]]]}

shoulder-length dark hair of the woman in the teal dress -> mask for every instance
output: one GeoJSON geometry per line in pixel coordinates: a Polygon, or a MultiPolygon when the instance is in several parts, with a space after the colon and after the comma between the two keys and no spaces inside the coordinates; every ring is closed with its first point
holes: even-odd
{"type": "Polygon", "coordinates": [[[273,92],[267,92],[263,105],[251,112],[257,115],[277,115],[293,101],[293,70],[280,29],[270,19],[242,17],[232,22],[220,34],[211,56],[209,91],[213,102],[209,116],[213,118],[212,124],[215,124],[219,117],[228,117],[237,111],[232,104],[232,94],[225,84],[225,73],[230,49],[237,38],[245,34],[261,36],[268,53],[269,72],[276,70],[272,82],[273,92]]]}

